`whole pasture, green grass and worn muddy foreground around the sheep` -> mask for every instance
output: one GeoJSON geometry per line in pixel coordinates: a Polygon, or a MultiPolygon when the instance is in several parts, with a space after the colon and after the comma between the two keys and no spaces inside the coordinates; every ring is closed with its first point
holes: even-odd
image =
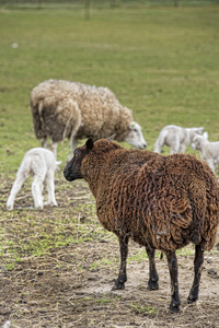
{"type": "Polygon", "coordinates": [[[28,178],[14,211],[5,210],[23,155],[39,145],[28,102],[47,79],[110,87],[132,109],[150,151],[168,124],[204,126],[219,140],[219,7],[95,7],[84,20],[77,5],[1,5],[0,31],[0,325],[219,327],[219,246],[206,253],[199,301],[189,306],[194,248],[178,251],[180,314],[169,313],[166,259],[158,255],[160,290],[150,292],[148,259],[134,243],[126,290],[111,291],[118,242],[99,224],[87,184],[65,180],[67,140],[58,147],[58,207],[31,210],[28,178]]]}

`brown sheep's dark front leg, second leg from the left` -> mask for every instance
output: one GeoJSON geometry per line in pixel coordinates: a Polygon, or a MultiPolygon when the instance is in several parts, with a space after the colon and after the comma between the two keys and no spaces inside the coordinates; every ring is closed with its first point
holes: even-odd
{"type": "Polygon", "coordinates": [[[146,251],[149,258],[149,281],[148,281],[148,289],[151,291],[155,291],[159,289],[159,277],[155,269],[155,249],[152,249],[149,246],[146,246],[146,251]]]}

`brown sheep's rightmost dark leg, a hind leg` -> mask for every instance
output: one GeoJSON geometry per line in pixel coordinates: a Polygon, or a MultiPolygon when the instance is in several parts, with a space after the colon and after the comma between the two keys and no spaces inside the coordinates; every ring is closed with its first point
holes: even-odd
{"type": "Polygon", "coordinates": [[[204,262],[204,250],[201,249],[200,245],[196,245],[195,247],[195,259],[194,259],[194,282],[191,289],[187,303],[193,303],[198,300],[198,290],[199,290],[199,282],[201,276],[201,266],[204,262]]]}

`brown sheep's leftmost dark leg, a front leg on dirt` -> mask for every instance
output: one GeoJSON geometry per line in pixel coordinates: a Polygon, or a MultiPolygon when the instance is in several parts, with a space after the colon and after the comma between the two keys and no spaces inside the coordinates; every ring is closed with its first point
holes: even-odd
{"type": "Polygon", "coordinates": [[[119,269],[118,279],[115,281],[112,291],[124,290],[125,282],[127,281],[126,263],[127,263],[127,256],[128,256],[128,237],[122,236],[118,237],[118,241],[120,247],[120,269],[119,269]]]}

